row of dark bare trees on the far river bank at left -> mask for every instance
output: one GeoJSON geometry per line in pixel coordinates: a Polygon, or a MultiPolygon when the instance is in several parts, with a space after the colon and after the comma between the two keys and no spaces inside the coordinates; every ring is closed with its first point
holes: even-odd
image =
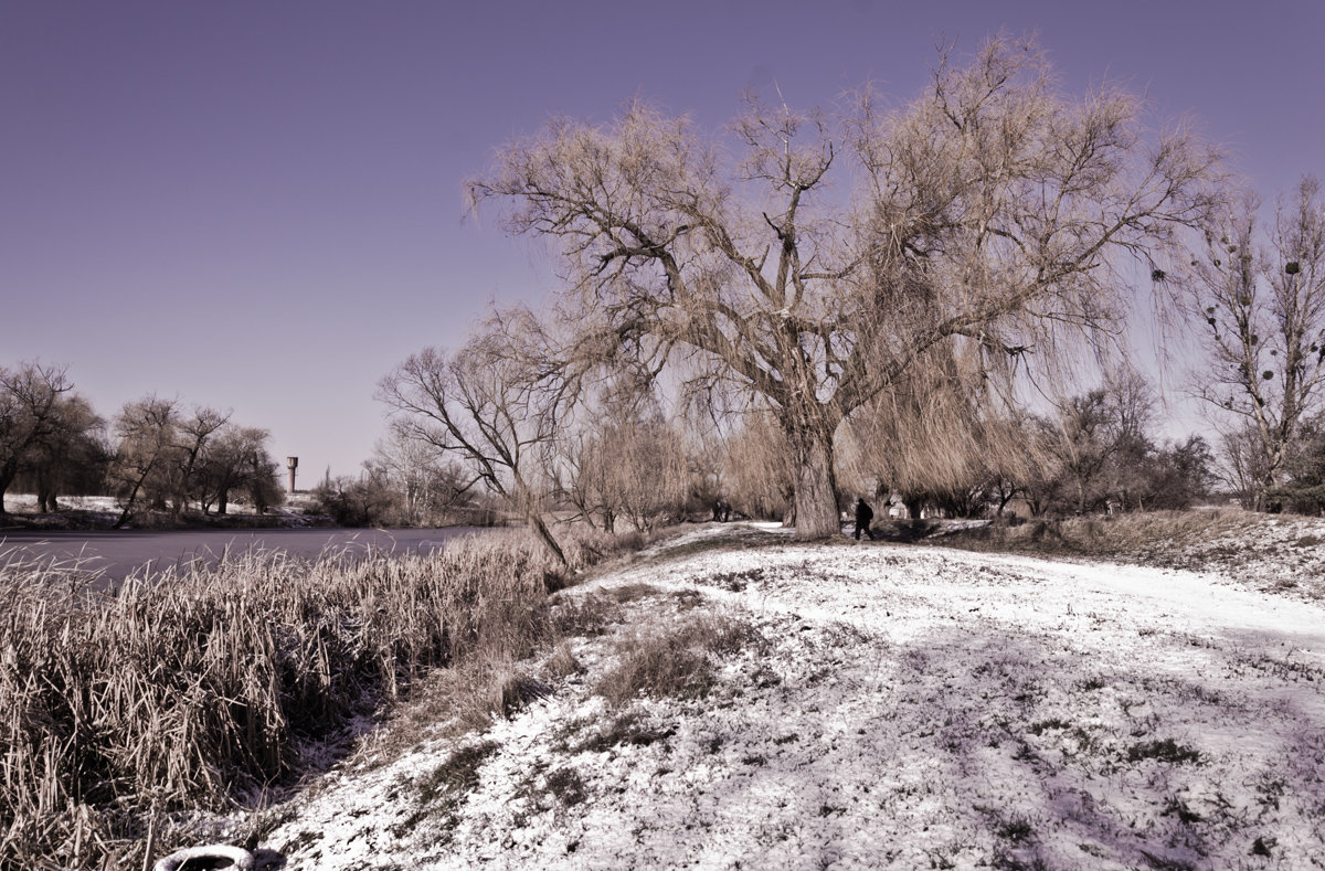
{"type": "Polygon", "coordinates": [[[44,514],[61,496],[113,495],[115,526],[140,511],[224,515],[240,499],[264,512],[285,498],[269,438],[229,412],[154,394],[107,422],[65,367],[0,365],[0,515],[15,491],[36,494],[44,514]]]}

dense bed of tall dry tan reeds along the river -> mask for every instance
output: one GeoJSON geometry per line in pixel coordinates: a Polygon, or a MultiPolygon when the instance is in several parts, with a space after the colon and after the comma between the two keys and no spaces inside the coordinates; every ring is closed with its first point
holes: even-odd
{"type": "MultiPolygon", "coordinates": [[[[583,564],[610,544],[570,549],[583,564]]],[[[0,568],[0,868],[142,867],[148,819],[253,801],[298,774],[301,741],[423,672],[547,643],[559,582],[518,533],[432,556],[249,553],[114,597],[0,568]]]]}

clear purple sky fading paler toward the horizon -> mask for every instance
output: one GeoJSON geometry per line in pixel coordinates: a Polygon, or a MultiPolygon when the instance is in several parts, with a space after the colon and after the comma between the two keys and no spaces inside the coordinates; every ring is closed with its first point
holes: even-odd
{"type": "Polygon", "coordinates": [[[68,365],[107,418],[232,409],[299,488],[356,474],[379,379],[556,285],[465,213],[502,144],[635,97],[714,132],[751,89],[902,102],[1000,29],[1071,93],[1191,115],[1267,197],[1325,179],[1320,0],[4,0],[0,365],[68,365]]]}

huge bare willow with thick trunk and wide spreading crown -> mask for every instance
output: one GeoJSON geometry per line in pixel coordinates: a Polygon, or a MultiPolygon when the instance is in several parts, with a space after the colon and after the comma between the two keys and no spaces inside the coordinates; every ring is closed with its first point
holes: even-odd
{"type": "Polygon", "coordinates": [[[991,368],[1059,328],[1112,327],[1120,255],[1143,261],[1208,210],[1218,158],[1151,132],[1141,102],[1056,89],[1030,42],[942,54],[926,90],[840,114],[751,101],[738,156],[641,102],[551,120],[472,181],[513,233],[559,246],[560,308],[587,363],[629,357],[774,409],[796,536],[839,531],[833,436],[945,343],[991,368]]]}

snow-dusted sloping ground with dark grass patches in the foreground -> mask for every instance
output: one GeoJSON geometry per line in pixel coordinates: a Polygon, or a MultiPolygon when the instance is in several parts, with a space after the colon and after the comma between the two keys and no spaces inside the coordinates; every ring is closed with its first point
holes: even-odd
{"type": "Polygon", "coordinates": [[[545,698],[358,755],[264,847],[318,870],[1322,867],[1325,613],[1264,592],[1293,563],[1259,567],[708,526],[559,594],[621,619],[570,638],[579,671],[545,698]],[[705,695],[595,692],[629,639],[696,621],[754,630],[705,695]]]}

